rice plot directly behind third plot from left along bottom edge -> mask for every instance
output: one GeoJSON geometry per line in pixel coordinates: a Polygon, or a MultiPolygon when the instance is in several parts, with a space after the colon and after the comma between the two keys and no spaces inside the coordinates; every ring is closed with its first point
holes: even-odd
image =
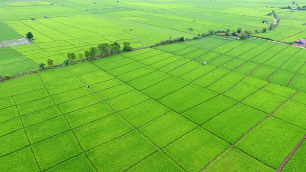
{"type": "Polygon", "coordinates": [[[120,118],[119,115],[113,114],[75,129],[74,132],[84,150],[88,151],[131,130],[133,128],[120,118]]]}

